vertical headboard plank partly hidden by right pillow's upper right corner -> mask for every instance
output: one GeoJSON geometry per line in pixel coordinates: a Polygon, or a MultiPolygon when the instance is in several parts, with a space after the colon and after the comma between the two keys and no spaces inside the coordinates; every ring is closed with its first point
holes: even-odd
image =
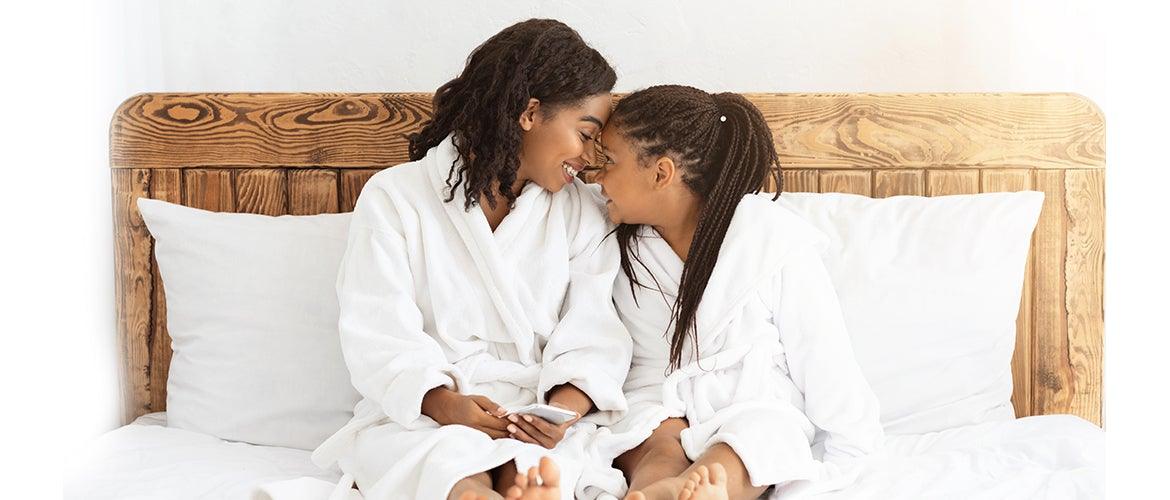
{"type": "MultiPolygon", "coordinates": [[[[987,170],[983,172],[982,191],[1012,192],[1032,189],[1032,171],[1030,170],[987,170]]],[[[1035,238],[1032,239],[1032,247],[1035,238]]],[[[1031,253],[1025,263],[1024,287],[1020,293],[1020,309],[1016,316],[1016,349],[1012,351],[1012,406],[1017,417],[1032,415],[1032,280],[1033,265],[1031,253]]]]}

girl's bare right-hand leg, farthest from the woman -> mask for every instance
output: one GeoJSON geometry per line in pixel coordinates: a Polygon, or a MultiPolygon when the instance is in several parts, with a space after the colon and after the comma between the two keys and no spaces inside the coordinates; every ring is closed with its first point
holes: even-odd
{"type": "Polygon", "coordinates": [[[768,488],[751,485],[748,467],[727,443],[711,446],[682,475],[687,482],[679,500],[751,500],[768,488]]]}

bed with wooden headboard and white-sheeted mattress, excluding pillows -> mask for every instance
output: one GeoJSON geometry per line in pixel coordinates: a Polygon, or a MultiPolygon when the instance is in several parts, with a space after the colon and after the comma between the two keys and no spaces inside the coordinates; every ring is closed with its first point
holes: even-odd
{"type": "MultiPolygon", "coordinates": [[[[889,438],[820,498],[1103,495],[1104,122],[1069,94],[750,94],[773,129],[784,191],[873,198],[1045,193],[1011,358],[1014,420],[889,438]]],[[[336,481],[304,450],[167,427],[171,337],[136,199],[216,212],[351,211],[405,162],[429,94],[142,94],[111,123],[117,335],[125,426],[70,460],[69,498],[248,498],[336,481]]],[[[775,186],[765,186],[775,190],[775,186]]]]}

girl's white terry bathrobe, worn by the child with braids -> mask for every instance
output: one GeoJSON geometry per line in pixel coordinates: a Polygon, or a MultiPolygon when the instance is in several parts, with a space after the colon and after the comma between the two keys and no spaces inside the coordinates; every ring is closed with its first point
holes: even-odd
{"type": "Polygon", "coordinates": [[[848,484],[859,458],[883,443],[878,398],[853,357],[818,255],[827,238],[770,198],[739,203],[696,314],[698,358],[688,341],[669,375],[670,308],[683,262],[658,232],[640,230],[636,252],[648,273],[633,265],[649,289],[632,292],[624,274],[614,285],[634,358],[625,385],[629,411],[604,437],[607,453],[633,448],[666,418],[686,417],[689,459],[725,443],[752,485],[780,485],[773,494],[783,495],[848,484]],[[821,438],[824,461],[812,452],[821,438]]]}

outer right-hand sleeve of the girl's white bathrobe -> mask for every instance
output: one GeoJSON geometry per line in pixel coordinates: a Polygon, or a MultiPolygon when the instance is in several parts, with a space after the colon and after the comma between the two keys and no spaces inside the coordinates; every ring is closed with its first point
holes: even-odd
{"type": "Polygon", "coordinates": [[[837,292],[813,247],[782,267],[775,322],[805,415],[826,432],[825,461],[845,461],[882,446],[878,397],[858,364],[837,292]]]}

